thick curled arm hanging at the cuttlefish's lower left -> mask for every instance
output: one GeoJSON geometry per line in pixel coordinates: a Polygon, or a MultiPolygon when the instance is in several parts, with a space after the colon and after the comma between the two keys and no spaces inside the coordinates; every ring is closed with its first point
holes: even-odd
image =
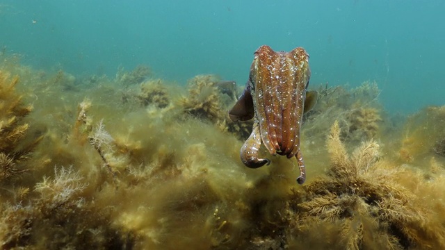
{"type": "Polygon", "coordinates": [[[258,158],[258,150],[261,146],[261,137],[259,135],[259,125],[258,122],[255,121],[253,124],[252,133],[250,134],[248,140],[244,142],[240,152],[241,160],[243,161],[244,165],[250,168],[258,168],[264,166],[265,164],[270,164],[269,159],[258,158]]]}

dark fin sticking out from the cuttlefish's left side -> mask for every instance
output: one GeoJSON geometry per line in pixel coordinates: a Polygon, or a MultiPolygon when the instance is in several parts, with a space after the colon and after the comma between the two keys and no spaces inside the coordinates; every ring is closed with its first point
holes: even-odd
{"type": "Polygon", "coordinates": [[[254,117],[253,99],[248,87],[244,89],[234,107],[229,110],[229,117],[232,122],[247,121],[254,117]]]}

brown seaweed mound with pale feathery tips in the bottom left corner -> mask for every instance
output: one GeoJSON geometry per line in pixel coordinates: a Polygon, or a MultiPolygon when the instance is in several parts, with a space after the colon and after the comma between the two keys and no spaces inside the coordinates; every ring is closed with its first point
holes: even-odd
{"type": "Polygon", "coordinates": [[[22,202],[2,203],[1,248],[130,247],[133,236],[108,226],[110,211],[91,203],[83,192],[87,185],[79,172],[60,167],[54,169],[52,180],[44,177],[35,185],[33,193],[38,196],[25,190],[22,202]]]}

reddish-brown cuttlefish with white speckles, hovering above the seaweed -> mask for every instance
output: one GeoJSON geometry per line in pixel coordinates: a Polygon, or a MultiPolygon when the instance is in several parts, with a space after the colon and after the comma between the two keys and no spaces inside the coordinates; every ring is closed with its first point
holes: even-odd
{"type": "Polygon", "coordinates": [[[302,115],[317,100],[317,92],[307,90],[310,75],[309,55],[301,47],[287,53],[263,45],[255,51],[245,90],[229,110],[234,122],[254,119],[252,133],[241,147],[244,165],[257,168],[270,164],[269,159],[258,158],[263,143],[273,156],[296,156],[300,169],[297,182],[305,182],[300,128],[302,115]]]}

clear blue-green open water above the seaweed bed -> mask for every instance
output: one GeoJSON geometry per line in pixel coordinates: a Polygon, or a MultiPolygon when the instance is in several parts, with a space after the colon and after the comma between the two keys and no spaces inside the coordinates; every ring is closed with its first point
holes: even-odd
{"type": "Polygon", "coordinates": [[[38,69],[75,76],[149,65],[186,83],[243,85],[262,44],[305,47],[311,84],[377,81],[394,113],[445,99],[445,1],[0,1],[0,45],[38,69]]]}

